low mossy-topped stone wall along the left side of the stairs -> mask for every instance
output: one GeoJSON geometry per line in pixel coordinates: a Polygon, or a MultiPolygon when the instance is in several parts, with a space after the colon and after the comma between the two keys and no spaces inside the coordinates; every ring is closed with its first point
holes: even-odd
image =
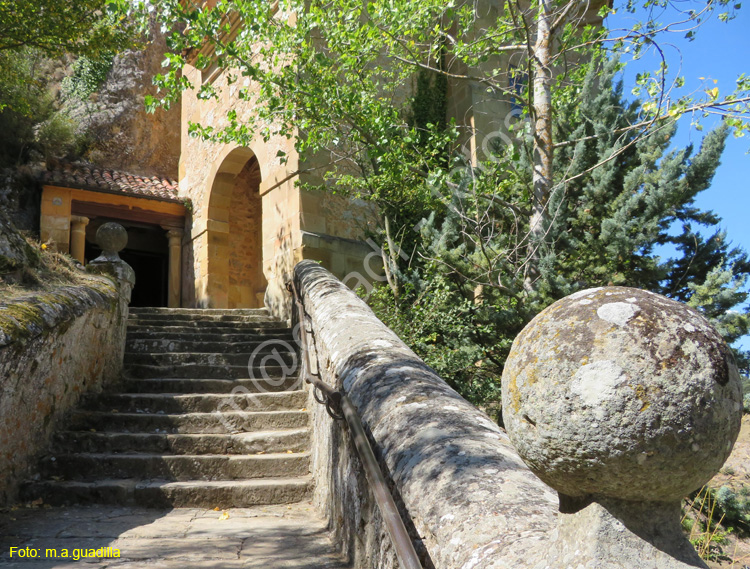
{"type": "Polygon", "coordinates": [[[120,377],[126,307],[103,276],[0,300],[0,505],[79,397],[120,377]]]}

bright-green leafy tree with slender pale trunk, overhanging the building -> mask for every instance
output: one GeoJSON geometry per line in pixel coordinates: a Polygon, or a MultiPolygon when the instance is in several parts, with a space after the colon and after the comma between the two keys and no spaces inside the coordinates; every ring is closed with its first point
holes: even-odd
{"type": "MultiPolygon", "coordinates": [[[[398,112],[403,93],[412,90],[416,71],[470,82],[481,87],[488,99],[516,100],[530,119],[532,234],[528,246],[533,256],[544,234],[547,201],[554,191],[554,152],[562,142],[553,133],[552,91],[575,77],[575,69],[593,49],[629,50],[637,55],[658,45],[675,27],[694,35],[705,18],[727,8],[729,1],[688,2],[674,12],[673,21],[659,22],[653,15],[633,29],[612,34],[600,25],[594,8],[586,4],[583,11],[583,5],[573,0],[535,0],[523,6],[505,2],[486,9],[475,3],[442,0],[210,4],[208,8],[202,2],[167,0],[157,7],[157,17],[168,27],[186,30],[171,37],[171,70],[160,81],[167,92],[163,102],[174,102],[182,89],[191,87],[180,75],[185,63],[182,54],[208,42],[213,44],[218,65],[260,86],[259,93],[252,88],[241,90],[257,102],[258,113],[243,120],[229,117],[221,131],[193,125],[192,134],[237,142],[247,141],[256,132],[295,136],[300,152],[321,150],[339,158],[333,170],[342,174],[337,178],[340,185],[359,189],[365,184],[371,195],[382,198],[384,192],[387,198],[392,197],[389,187],[412,187],[415,177],[427,177],[431,170],[432,153],[424,145],[415,148],[417,141],[424,142],[429,135],[415,133],[414,124],[398,112]],[[236,18],[243,22],[237,34],[232,30],[236,18]],[[523,93],[513,80],[519,70],[528,87],[523,93]],[[394,147],[397,140],[404,143],[394,147]],[[358,180],[367,181],[343,174],[352,169],[358,180]],[[404,186],[401,181],[411,183],[404,186]]],[[[661,12],[663,4],[644,2],[653,14],[661,12]]],[[[637,7],[636,2],[619,6],[633,12],[637,7]]],[[[719,17],[729,20],[733,10],[727,8],[719,17]]],[[[600,14],[609,11],[603,6],[600,14]]],[[[213,63],[204,55],[196,61],[198,67],[213,63]]],[[[720,112],[729,115],[734,128],[744,130],[742,117],[750,101],[748,78],[739,78],[735,91],[724,96],[715,87],[702,93],[703,98],[681,96],[673,88],[683,78],[671,76],[667,63],[654,73],[639,75],[638,88],[649,100],[628,129],[646,134],[684,112],[720,112]]],[[[215,85],[194,87],[201,98],[217,96],[215,85]]],[[[430,134],[439,130],[440,125],[430,124],[430,134]]],[[[527,266],[529,274],[536,271],[532,265],[538,260],[533,260],[527,266]]]]}

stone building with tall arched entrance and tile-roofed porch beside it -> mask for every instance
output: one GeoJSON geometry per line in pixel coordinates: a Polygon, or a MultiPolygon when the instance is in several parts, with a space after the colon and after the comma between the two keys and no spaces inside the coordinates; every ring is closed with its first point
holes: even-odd
{"type": "MultiPolygon", "coordinates": [[[[492,3],[486,4],[485,11],[480,19],[491,22],[498,17],[498,7],[492,3]]],[[[60,250],[70,251],[83,262],[86,244],[91,246],[98,223],[129,222],[131,238],[140,240],[142,248],[147,244],[157,257],[162,255],[161,261],[143,261],[143,268],[136,267],[139,282],[146,279],[149,286],[168,287],[166,293],[139,300],[137,283],[136,305],[267,306],[276,315],[288,316],[286,283],[291,279],[292,268],[302,259],[320,261],[339,278],[357,275],[353,282],[362,282],[361,275],[371,276],[377,264],[372,260],[377,246],[372,241],[368,243],[366,237],[377,212],[365,202],[302,189],[299,182],[315,180],[309,163],[303,163],[295,152],[293,140],[264,140],[258,135],[248,146],[241,147],[210,144],[188,136],[190,123],[221,129],[230,110],[240,122],[254,113],[252,101],[239,97],[241,89],[252,90],[250,79],[241,78],[230,84],[225,70],[216,66],[199,69],[194,65],[199,55],[210,59],[210,50],[207,45],[202,52],[188,55],[182,71],[194,89],[183,93],[177,113],[174,109],[169,113],[168,120],[180,135],[179,167],[171,174],[177,181],[162,177],[153,178],[157,180],[154,182],[151,178],[101,170],[121,183],[112,185],[111,180],[105,180],[92,184],[85,180],[100,171],[95,167],[79,164],[72,169],[81,171],[73,174],[71,166],[66,167],[67,173],[65,168],[58,168],[45,179],[42,239],[56,243],[60,250]],[[198,97],[198,89],[207,83],[216,88],[218,99],[198,97]],[[144,185],[134,179],[147,181],[144,185]],[[150,191],[154,184],[163,187],[150,191]],[[71,197],[68,190],[75,196],[71,197]],[[84,195],[83,191],[88,193],[84,195]],[[150,194],[146,196],[143,191],[150,194]],[[103,198],[105,194],[107,197],[103,198]],[[63,206],[54,205],[60,199],[63,206]],[[112,207],[103,211],[92,205],[102,200],[112,207]],[[133,218],[136,210],[140,217],[133,218]],[[121,215],[123,212],[127,215],[121,215]],[[167,213],[176,217],[160,222],[158,217],[167,213]],[[98,221],[87,228],[86,220],[94,218],[98,221]],[[156,229],[161,235],[153,233],[156,229]],[[165,264],[168,269],[163,268],[165,264]],[[155,271],[164,270],[169,273],[167,278],[151,278],[155,271]]],[[[156,58],[149,61],[153,63],[156,58]]],[[[512,56],[501,54],[483,65],[510,69],[512,56]]],[[[150,69],[151,75],[158,71],[150,69]]],[[[481,157],[493,144],[507,140],[508,123],[514,120],[512,99],[488,96],[485,88],[471,81],[451,81],[447,87],[447,118],[454,119],[467,133],[467,154],[481,157]]],[[[176,145],[173,146],[176,154],[176,145]]],[[[137,169],[137,165],[133,168],[137,169]]],[[[144,163],[143,171],[148,170],[144,163]]],[[[127,260],[127,256],[124,258],[127,260]]]]}

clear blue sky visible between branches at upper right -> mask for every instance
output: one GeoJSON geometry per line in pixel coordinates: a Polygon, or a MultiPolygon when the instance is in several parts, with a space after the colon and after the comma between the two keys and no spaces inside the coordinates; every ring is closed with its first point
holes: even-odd
{"type": "MultiPolygon", "coordinates": [[[[615,2],[615,8],[621,4],[615,2]]],[[[683,6],[687,2],[681,3],[683,6]]],[[[691,7],[697,3],[690,3],[691,7]]],[[[721,10],[717,10],[721,11],[721,10]]],[[[628,14],[618,10],[607,18],[612,28],[632,27],[639,14],[628,14]]],[[[643,18],[643,16],[641,16],[643,18]]],[[[658,21],[669,21],[665,15],[657,17],[658,21]]],[[[662,38],[660,45],[670,62],[670,71],[685,77],[685,87],[680,94],[687,94],[697,89],[718,87],[721,94],[734,90],[737,77],[746,73],[750,75],[750,6],[736,12],[736,18],[730,22],[720,22],[714,15],[698,29],[694,41],[688,41],[684,33],[668,34],[662,38]],[[701,79],[704,78],[704,79],[701,79]],[[716,80],[716,83],[714,83],[716,80]]],[[[629,63],[625,71],[625,84],[634,84],[636,72],[655,70],[659,60],[651,52],[637,62],[629,63]]],[[[716,124],[717,118],[703,119],[705,129],[716,124]]],[[[691,118],[683,117],[679,130],[674,138],[675,146],[684,147],[694,143],[696,147],[704,132],[690,126],[691,118]]],[[[734,138],[730,135],[716,176],[711,187],[698,195],[696,204],[702,209],[712,210],[721,219],[721,226],[727,231],[729,239],[735,246],[750,251],[750,136],[734,138]]],[[[750,337],[746,336],[741,345],[750,349],[750,337]]]]}

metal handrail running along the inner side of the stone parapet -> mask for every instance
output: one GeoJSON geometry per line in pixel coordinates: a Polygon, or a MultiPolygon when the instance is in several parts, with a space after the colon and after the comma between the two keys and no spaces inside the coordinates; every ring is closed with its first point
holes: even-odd
{"type": "MultiPolygon", "coordinates": [[[[320,390],[323,394],[325,402],[318,399],[317,393],[315,394],[315,399],[318,403],[322,403],[326,406],[328,414],[334,419],[341,420],[343,418],[346,421],[349,428],[349,434],[352,437],[354,447],[357,449],[357,454],[362,463],[362,468],[365,471],[365,478],[370,484],[370,488],[372,488],[375,502],[383,516],[388,535],[393,542],[393,548],[396,552],[399,566],[401,569],[423,569],[422,563],[419,561],[419,556],[414,549],[414,544],[409,537],[409,532],[406,531],[404,521],[401,519],[401,515],[398,512],[396,502],[393,500],[390,490],[388,490],[383,471],[380,469],[380,465],[375,458],[372,446],[370,446],[370,441],[365,434],[362,418],[359,416],[357,408],[345,393],[336,391],[333,387],[324,382],[320,377],[319,370],[317,373],[312,372],[310,367],[310,352],[307,347],[307,327],[305,325],[307,318],[305,309],[293,280],[287,285],[287,290],[292,294],[294,304],[297,308],[300,345],[304,354],[302,375],[307,383],[313,385],[313,389],[320,390]]],[[[310,332],[311,334],[313,333],[312,330],[310,332]]]]}

